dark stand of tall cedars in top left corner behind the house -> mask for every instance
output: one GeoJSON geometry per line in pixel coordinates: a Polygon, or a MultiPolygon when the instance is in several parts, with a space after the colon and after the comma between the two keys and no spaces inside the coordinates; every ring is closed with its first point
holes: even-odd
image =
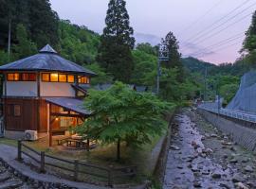
{"type": "Polygon", "coordinates": [[[9,22],[12,44],[18,40],[15,39],[17,25],[22,24],[40,48],[46,43],[55,45],[59,42],[58,21],[49,0],[0,0],[0,49],[6,49],[8,45],[9,22]]]}

